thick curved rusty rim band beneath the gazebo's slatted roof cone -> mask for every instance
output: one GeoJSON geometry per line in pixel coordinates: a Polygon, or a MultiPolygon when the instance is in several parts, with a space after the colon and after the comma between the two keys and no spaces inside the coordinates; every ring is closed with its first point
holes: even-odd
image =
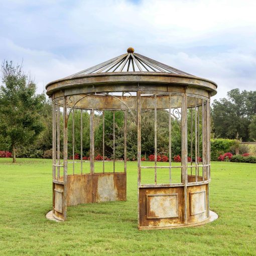
{"type": "MultiPolygon", "coordinates": [[[[51,95],[54,91],[65,89],[69,95],[85,92],[100,91],[167,91],[167,85],[190,88],[201,88],[211,95],[216,94],[217,85],[207,79],[178,75],[169,73],[151,73],[151,72],[125,72],[125,73],[104,73],[89,74],[79,78],[60,79],[53,81],[46,86],[47,94],[51,95]],[[138,83],[140,87],[138,88],[138,83]],[[158,88],[158,87],[163,88],[158,88]],[[68,89],[68,90],[67,90],[68,89]]],[[[171,87],[171,86],[170,86],[171,87]]],[[[169,88],[170,88],[169,87],[169,88]]],[[[171,88],[170,88],[171,89],[171,88]]],[[[179,91],[178,89],[178,91],[179,91]]],[[[176,89],[177,91],[177,89],[176,89]]],[[[193,91],[193,90],[192,90],[193,91]]],[[[190,93],[190,92],[188,92],[190,93]]]]}

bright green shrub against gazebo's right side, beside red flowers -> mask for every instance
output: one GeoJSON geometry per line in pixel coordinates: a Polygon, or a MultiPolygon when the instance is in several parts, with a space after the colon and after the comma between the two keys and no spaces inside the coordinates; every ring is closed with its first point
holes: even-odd
{"type": "Polygon", "coordinates": [[[211,139],[211,160],[217,161],[220,155],[230,152],[230,148],[239,145],[239,141],[230,139],[211,139]]]}

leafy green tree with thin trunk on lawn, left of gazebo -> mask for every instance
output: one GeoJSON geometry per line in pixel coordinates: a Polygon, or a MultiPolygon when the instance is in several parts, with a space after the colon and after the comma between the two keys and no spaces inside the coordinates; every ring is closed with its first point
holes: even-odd
{"type": "Polygon", "coordinates": [[[4,61],[1,66],[0,134],[9,142],[16,162],[16,149],[33,143],[43,130],[40,110],[44,94],[36,95],[36,84],[22,71],[22,65],[4,61]]]}

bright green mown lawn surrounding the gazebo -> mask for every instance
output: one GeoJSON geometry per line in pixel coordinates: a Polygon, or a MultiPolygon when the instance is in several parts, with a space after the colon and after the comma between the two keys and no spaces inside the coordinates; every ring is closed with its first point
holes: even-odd
{"type": "MultiPolygon", "coordinates": [[[[127,164],[127,201],[52,205],[51,160],[0,159],[0,255],[256,255],[256,164],[212,162],[210,209],[198,227],[137,229],[137,162],[127,164]]],[[[117,163],[121,165],[122,163],[117,163]]]]}

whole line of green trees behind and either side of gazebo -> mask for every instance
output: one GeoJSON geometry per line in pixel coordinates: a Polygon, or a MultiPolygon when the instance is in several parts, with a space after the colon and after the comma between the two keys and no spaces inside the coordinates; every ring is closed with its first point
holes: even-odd
{"type": "MultiPolygon", "coordinates": [[[[36,84],[22,65],[4,61],[0,86],[0,150],[18,157],[51,158],[52,110],[45,93],[36,93],[36,84]]],[[[74,111],[75,153],[80,153],[80,111],[74,111]]],[[[83,156],[89,156],[89,113],[83,111],[83,156]]],[[[105,111],[105,156],[113,154],[113,112],[105,111]]],[[[157,114],[158,154],[169,154],[169,114],[157,114]]],[[[63,118],[63,117],[62,117],[63,118]]],[[[190,118],[188,113],[188,119],[190,118]]],[[[68,130],[72,131],[72,118],[68,130]]],[[[142,154],[154,154],[154,111],[142,115],[142,154]]],[[[127,158],[137,158],[137,125],[127,115],[127,158]]],[[[172,118],[172,156],[181,154],[180,120],[172,118]]],[[[227,98],[214,100],[211,107],[211,137],[256,141],[256,91],[233,89],[227,98]]],[[[115,155],[123,158],[124,112],[115,111],[115,155]]],[[[95,154],[102,154],[102,113],[95,113],[95,154]]],[[[188,129],[190,127],[188,126],[188,129]]],[[[62,133],[61,133],[62,134],[62,133]]],[[[188,137],[190,131],[188,131],[188,137]]],[[[72,155],[72,133],[68,133],[68,154],[72,155]]],[[[188,138],[190,142],[190,138],[188,138]]],[[[188,145],[189,147],[189,145],[188,145]]]]}

